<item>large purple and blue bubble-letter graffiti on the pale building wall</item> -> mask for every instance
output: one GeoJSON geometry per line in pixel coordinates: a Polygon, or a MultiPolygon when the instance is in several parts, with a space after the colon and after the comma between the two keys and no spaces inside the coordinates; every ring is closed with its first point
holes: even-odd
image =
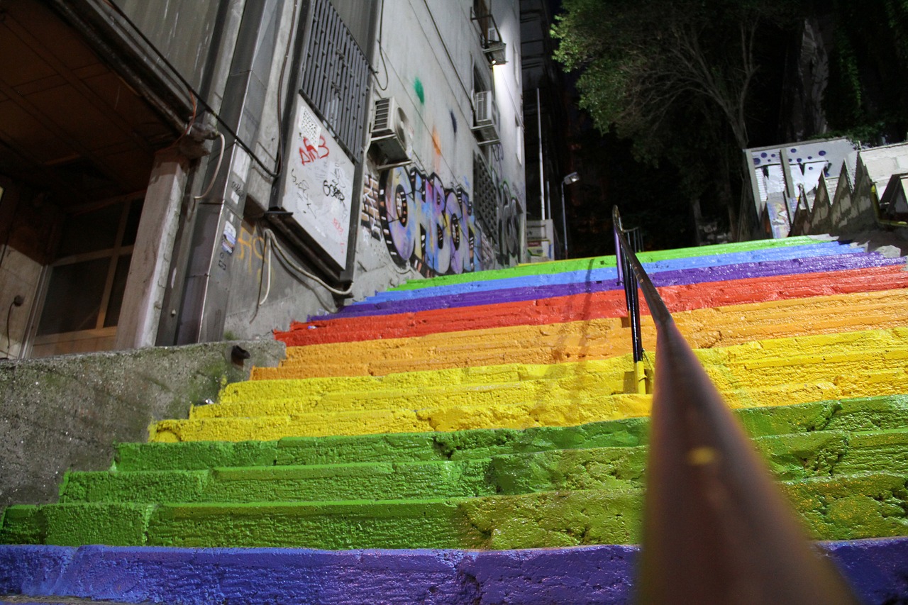
{"type": "Polygon", "coordinates": [[[400,266],[423,275],[483,268],[482,232],[462,187],[445,187],[438,174],[391,168],[382,175],[379,214],[385,243],[400,266]]]}

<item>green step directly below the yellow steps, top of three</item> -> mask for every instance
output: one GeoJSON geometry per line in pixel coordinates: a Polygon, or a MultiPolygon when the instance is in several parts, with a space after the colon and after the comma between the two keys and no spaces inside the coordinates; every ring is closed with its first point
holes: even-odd
{"type": "MultiPolygon", "coordinates": [[[[908,395],[746,408],[734,413],[745,430],[755,437],[824,430],[889,431],[908,426],[908,395]]],[[[648,429],[648,418],[629,418],[522,430],[292,437],[280,441],[120,443],[114,468],[119,471],[165,471],[480,459],[531,451],[644,445],[648,429]]]]}

